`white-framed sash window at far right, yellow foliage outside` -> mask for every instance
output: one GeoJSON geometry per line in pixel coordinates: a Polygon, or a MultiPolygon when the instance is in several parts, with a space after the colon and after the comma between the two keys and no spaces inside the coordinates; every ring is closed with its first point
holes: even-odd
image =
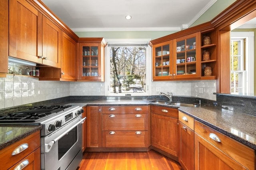
{"type": "Polygon", "coordinates": [[[231,94],[254,94],[254,32],[231,32],[231,94]]]}

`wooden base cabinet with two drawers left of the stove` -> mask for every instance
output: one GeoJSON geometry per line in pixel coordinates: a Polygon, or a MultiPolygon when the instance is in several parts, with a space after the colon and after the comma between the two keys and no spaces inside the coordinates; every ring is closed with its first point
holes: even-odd
{"type": "Polygon", "coordinates": [[[40,131],[36,131],[24,139],[0,150],[1,169],[14,170],[15,168],[22,169],[21,167],[24,167],[23,170],[40,170],[40,153],[40,131]],[[16,150],[17,154],[12,155],[14,150],[16,150]],[[22,151],[18,152],[18,150],[22,151]]]}

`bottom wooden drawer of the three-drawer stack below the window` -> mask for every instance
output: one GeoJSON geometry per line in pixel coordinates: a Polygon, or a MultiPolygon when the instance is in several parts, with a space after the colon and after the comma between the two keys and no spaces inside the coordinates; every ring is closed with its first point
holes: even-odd
{"type": "Polygon", "coordinates": [[[148,131],[103,131],[103,147],[148,147],[148,131]]]}

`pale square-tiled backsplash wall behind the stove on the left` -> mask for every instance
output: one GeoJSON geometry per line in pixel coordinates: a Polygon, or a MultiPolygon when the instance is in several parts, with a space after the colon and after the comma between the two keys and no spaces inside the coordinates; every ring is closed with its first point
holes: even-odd
{"type": "Polygon", "coordinates": [[[0,78],[0,109],[70,96],[70,83],[38,78],[0,78]],[[13,97],[15,96],[15,97],[13,97]]]}

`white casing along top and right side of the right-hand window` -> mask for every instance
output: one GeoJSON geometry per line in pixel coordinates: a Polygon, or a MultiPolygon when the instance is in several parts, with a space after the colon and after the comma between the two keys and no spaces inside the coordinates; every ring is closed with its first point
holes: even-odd
{"type": "Polygon", "coordinates": [[[231,39],[246,39],[246,81],[248,94],[254,94],[254,32],[231,32],[231,39]],[[249,56],[249,57],[248,57],[249,56]]]}

